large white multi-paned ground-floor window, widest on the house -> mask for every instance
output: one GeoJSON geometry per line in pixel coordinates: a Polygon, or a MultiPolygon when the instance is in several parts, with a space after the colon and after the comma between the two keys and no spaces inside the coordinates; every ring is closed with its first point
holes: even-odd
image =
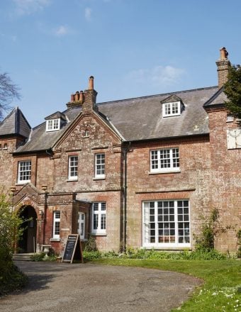
{"type": "Polygon", "coordinates": [[[143,201],[144,247],[189,247],[189,201],[143,201]]]}

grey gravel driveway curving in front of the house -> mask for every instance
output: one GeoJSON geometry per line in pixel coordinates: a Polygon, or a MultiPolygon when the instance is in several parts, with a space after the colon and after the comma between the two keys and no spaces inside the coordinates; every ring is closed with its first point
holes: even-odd
{"type": "Polygon", "coordinates": [[[201,281],[186,274],[99,264],[16,261],[30,283],[0,299],[4,312],[149,312],[180,306],[201,281]]]}

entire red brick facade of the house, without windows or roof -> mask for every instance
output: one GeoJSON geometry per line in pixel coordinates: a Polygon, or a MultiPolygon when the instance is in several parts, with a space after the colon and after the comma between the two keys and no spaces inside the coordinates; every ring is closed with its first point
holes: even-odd
{"type": "MultiPolygon", "coordinates": [[[[227,128],[237,125],[226,122],[226,112],[222,109],[210,110],[208,115],[210,138],[203,135],[130,145],[127,155],[128,246],[142,246],[142,201],[189,199],[191,235],[200,233],[201,216],[208,216],[213,208],[218,208],[223,226],[232,225],[235,230],[218,235],[216,247],[222,251],[236,250],[236,232],[241,226],[241,149],[227,149],[227,128]],[[150,173],[150,150],[165,147],[179,147],[180,172],[150,173]]],[[[8,150],[0,151],[1,182],[7,188],[15,185],[18,161],[31,160],[31,182],[39,191],[42,185],[47,185],[50,195],[55,193],[56,196],[55,200],[54,196],[48,199],[45,244],[49,244],[52,238],[52,213],[61,211],[60,227],[64,229],[61,230],[61,241],[51,242],[57,252],[62,252],[67,235],[77,230],[79,206],[74,203],[72,195],[66,193],[75,192],[81,201],[106,202],[106,235],[93,237],[100,250],[118,251],[123,233],[123,155],[120,140],[94,112],[80,116],[71,127],[69,134],[55,147],[53,157],[45,154],[12,157],[10,152],[15,150],[18,141],[8,140],[8,150]],[[84,137],[85,130],[89,131],[87,137],[84,137]],[[104,179],[94,177],[94,155],[99,152],[106,156],[104,179]],[[78,155],[79,160],[78,180],[74,182],[67,180],[69,155],[78,155]]],[[[17,189],[22,186],[17,185],[17,189]]],[[[43,199],[37,204],[43,208],[43,199]]],[[[88,216],[88,208],[83,209],[86,209],[87,229],[91,215],[88,216]]],[[[194,241],[191,246],[194,247],[194,241]]]]}

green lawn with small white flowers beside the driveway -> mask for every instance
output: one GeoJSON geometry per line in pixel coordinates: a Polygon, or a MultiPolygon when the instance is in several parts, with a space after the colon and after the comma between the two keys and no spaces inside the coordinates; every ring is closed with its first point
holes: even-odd
{"type": "Polygon", "coordinates": [[[240,260],[136,260],[100,259],[96,263],[147,267],[190,274],[203,279],[203,285],[181,308],[172,311],[240,312],[241,261],[240,260]],[[240,287],[240,288],[239,288],[240,287]]]}

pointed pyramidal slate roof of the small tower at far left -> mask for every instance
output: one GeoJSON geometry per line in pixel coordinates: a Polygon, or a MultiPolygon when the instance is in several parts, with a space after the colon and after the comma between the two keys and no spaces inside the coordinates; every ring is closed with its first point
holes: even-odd
{"type": "Polygon", "coordinates": [[[0,123],[0,135],[22,135],[28,138],[31,127],[21,110],[16,107],[0,123]]]}

